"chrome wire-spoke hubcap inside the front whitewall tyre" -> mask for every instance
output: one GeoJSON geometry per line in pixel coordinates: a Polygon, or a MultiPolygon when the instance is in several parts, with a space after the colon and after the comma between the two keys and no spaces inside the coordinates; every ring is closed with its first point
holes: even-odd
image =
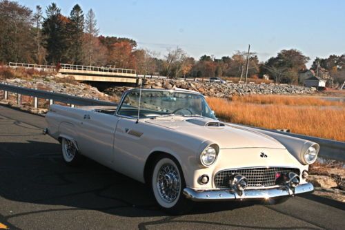
{"type": "Polygon", "coordinates": [[[160,197],[168,203],[178,198],[181,190],[181,178],[179,171],[171,164],[164,164],[157,175],[157,188],[160,197]]]}

